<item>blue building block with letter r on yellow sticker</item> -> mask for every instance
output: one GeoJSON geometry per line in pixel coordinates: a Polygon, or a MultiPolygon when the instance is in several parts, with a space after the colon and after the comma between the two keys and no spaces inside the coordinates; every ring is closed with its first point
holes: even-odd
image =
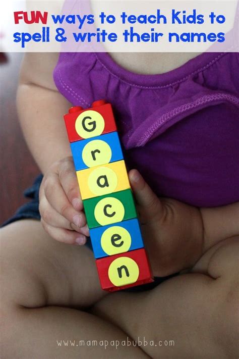
{"type": "Polygon", "coordinates": [[[110,132],[71,144],[76,171],[123,160],[117,132],[110,132]]]}

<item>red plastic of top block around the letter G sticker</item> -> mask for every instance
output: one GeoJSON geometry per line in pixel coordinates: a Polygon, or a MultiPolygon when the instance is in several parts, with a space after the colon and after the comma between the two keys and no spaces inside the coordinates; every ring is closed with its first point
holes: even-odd
{"type": "Polygon", "coordinates": [[[104,100],[95,101],[92,104],[92,107],[89,109],[83,109],[80,106],[72,107],[69,110],[69,113],[64,116],[68,138],[70,142],[75,142],[83,139],[77,132],[75,128],[75,123],[78,116],[85,112],[93,110],[98,112],[104,119],[104,129],[101,134],[117,131],[116,125],[114,122],[112,107],[110,104],[106,104],[104,100]]]}

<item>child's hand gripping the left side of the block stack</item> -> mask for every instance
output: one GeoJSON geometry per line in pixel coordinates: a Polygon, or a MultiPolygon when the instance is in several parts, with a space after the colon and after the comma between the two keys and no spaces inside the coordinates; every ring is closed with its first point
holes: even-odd
{"type": "Polygon", "coordinates": [[[52,238],[85,244],[89,229],[72,157],[55,162],[45,173],[39,202],[42,226],[52,238]]]}

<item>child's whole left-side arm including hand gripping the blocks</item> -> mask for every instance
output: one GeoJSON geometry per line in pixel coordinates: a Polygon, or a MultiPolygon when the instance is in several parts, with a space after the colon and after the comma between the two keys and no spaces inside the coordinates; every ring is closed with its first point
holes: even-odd
{"type": "Polygon", "coordinates": [[[52,79],[56,61],[57,54],[25,55],[17,106],[24,136],[44,174],[39,194],[42,225],[54,239],[77,244],[85,242],[88,229],[63,121],[71,104],[52,79]]]}

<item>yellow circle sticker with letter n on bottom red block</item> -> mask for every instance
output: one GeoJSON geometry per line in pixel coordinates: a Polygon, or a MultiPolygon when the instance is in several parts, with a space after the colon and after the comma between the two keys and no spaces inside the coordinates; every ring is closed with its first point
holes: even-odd
{"type": "Polygon", "coordinates": [[[132,284],[139,278],[139,267],[129,257],[116,258],[109,266],[108,276],[110,282],[116,287],[132,284]]]}

